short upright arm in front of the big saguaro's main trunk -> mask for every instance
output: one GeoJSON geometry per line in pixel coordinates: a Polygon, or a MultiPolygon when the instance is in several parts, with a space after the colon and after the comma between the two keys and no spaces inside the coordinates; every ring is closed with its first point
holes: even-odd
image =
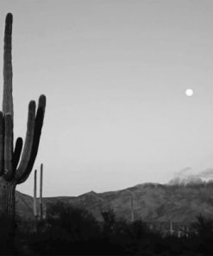
{"type": "Polygon", "coordinates": [[[7,113],[4,117],[5,122],[5,134],[4,134],[4,170],[3,176],[5,180],[10,180],[13,176],[12,169],[12,116],[10,113],[7,113]]]}

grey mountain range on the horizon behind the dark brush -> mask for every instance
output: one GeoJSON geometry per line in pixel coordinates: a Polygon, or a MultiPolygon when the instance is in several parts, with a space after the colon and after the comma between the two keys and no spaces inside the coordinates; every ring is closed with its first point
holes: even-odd
{"type": "MultiPolygon", "coordinates": [[[[101,211],[110,208],[118,217],[130,221],[131,200],[135,219],[144,221],[195,221],[198,214],[213,217],[212,182],[187,185],[143,183],[118,191],[44,198],[46,205],[62,201],[88,209],[98,221],[103,221],[101,211]]],[[[17,191],[16,211],[24,218],[33,218],[33,198],[17,191]]]]}

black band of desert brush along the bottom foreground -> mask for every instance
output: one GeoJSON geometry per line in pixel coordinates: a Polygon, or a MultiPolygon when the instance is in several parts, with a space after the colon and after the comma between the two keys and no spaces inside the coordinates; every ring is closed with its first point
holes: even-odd
{"type": "Polygon", "coordinates": [[[213,255],[212,220],[199,216],[190,232],[177,237],[151,231],[142,221],[116,220],[112,211],[102,214],[98,223],[87,211],[58,202],[47,208],[45,221],[17,219],[10,240],[2,218],[0,255],[213,255]]]}

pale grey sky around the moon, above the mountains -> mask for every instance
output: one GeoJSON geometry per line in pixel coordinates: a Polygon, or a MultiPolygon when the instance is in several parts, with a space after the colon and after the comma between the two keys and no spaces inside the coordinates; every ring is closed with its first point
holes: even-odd
{"type": "MultiPolygon", "coordinates": [[[[213,168],[211,0],[2,0],[0,70],[8,12],[16,138],[29,100],[47,96],[44,196],[213,168]]],[[[34,170],[17,190],[33,195],[34,170]]]]}

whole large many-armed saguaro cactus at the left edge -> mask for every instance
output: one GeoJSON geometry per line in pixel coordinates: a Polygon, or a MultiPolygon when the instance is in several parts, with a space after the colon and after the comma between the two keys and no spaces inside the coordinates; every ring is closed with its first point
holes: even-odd
{"type": "Polygon", "coordinates": [[[3,112],[0,112],[0,213],[15,215],[16,185],[25,182],[34,166],[43,125],[46,97],[41,95],[36,111],[34,100],[28,104],[28,125],[22,150],[22,138],[16,139],[14,149],[12,97],[12,22],[8,13],[5,20],[3,52],[3,112]],[[19,163],[19,164],[18,164],[19,163]]]}

